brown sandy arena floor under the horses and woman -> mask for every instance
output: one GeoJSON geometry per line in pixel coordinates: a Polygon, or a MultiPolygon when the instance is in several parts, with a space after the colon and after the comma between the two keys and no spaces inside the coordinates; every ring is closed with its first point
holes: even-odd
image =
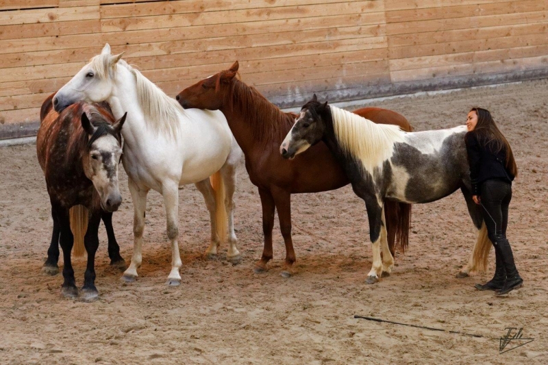
{"type": "MultiPolygon", "coordinates": [[[[171,253],[165,214],[160,194],[151,192],[138,281],[124,284],[110,268],[101,228],[99,301],[64,299],[62,276],[40,272],[52,221],[35,145],[1,148],[0,363],[547,364],[547,103],[548,80],[375,103],[400,112],[417,130],[464,123],[473,105],[493,112],[520,169],[508,238],[525,285],[504,298],[473,288],[493,275],[493,260],[487,274],[455,277],[475,240],[460,192],[414,205],[410,250],[397,255],[393,275],[373,286],[364,283],[371,268],[364,205],[351,188],[295,195],[298,274],[279,275],[285,250],[277,223],[275,260],[267,273],[253,274],[262,253],[260,199],[242,164],[236,191],[240,264],[225,262],[226,247],[218,260],[203,260],[209,216],[199,192],[188,186],[179,204],[182,285],[166,286],[171,253]],[[523,327],[523,338],[534,342],[499,355],[505,327],[523,327]]],[[[121,175],[124,203],[114,214],[114,229],[129,263],[133,210],[121,175]]],[[[76,260],[78,285],[84,270],[85,260],[76,260]]]]}

